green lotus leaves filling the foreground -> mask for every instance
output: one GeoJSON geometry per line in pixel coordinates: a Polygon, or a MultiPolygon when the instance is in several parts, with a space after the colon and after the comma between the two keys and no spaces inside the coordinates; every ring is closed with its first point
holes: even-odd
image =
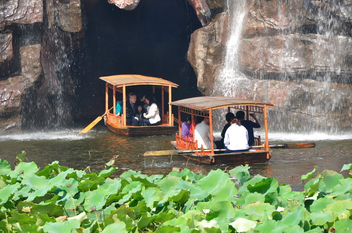
{"type": "Polygon", "coordinates": [[[198,175],[89,172],[34,162],[0,160],[0,232],[4,233],[321,233],[352,232],[349,176],[316,167],[302,176],[303,192],[273,177],[251,177],[248,165],[198,175]]]}

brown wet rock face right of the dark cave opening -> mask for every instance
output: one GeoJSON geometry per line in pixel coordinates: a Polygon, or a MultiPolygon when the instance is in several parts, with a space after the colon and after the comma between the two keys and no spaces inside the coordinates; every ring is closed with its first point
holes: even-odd
{"type": "MultiPolygon", "coordinates": [[[[277,130],[304,130],[303,121],[316,130],[351,130],[351,7],[351,0],[246,0],[238,51],[242,78],[223,88],[274,103],[277,130]]],[[[214,94],[228,59],[226,18],[218,14],[191,37],[188,59],[204,95],[214,94]]]]}

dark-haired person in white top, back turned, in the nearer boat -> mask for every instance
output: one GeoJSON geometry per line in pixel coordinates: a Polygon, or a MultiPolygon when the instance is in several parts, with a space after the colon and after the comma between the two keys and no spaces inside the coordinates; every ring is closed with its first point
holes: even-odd
{"type": "Polygon", "coordinates": [[[228,127],[224,137],[225,153],[248,151],[248,132],[241,121],[237,118],[231,119],[231,126],[228,127]]]}

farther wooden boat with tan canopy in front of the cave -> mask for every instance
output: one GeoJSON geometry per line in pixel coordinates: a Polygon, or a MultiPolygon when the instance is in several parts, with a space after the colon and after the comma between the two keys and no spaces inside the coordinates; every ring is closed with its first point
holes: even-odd
{"type": "MultiPolygon", "coordinates": [[[[171,102],[172,88],[178,87],[176,83],[171,81],[142,75],[114,75],[108,77],[101,77],[100,79],[106,82],[105,88],[105,110],[106,115],[104,117],[105,123],[108,128],[115,134],[125,135],[125,136],[154,136],[154,135],[171,135],[176,131],[176,126],[173,123],[173,114],[171,105],[168,105],[168,112],[164,111],[164,97],[165,93],[168,94],[168,102],[171,102]],[[162,124],[158,126],[131,126],[126,125],[126,90],[130,86],[146,85],[146,87],[152,87],[152,92],[155,94],[155,89],[160,89],[161,95],[161,109],[160,117],[162,119],[162,124]],[[112,90],[112,102],[109,101],[109,95],[111,95],[112,90]],[[123,101],[123,114],[122,116],[115,116],[116,110],[116,93],[122,94],[123,101]],[[109,108],[109,104],[112,107],[109,108]],[[112,111],[112,112],[111,112],[112,111]]],[[[146,93],[144,93],[146,94],[146,93]]],[[[120,99],[121,99],[120,98],[120,99]]],[[[160,98],[159,98],[160,99],[160,98]]]]}

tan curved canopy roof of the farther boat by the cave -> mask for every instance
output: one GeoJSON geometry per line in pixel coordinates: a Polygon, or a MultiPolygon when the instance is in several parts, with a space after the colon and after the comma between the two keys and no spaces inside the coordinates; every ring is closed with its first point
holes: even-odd
{"type": "Polygon", "coordinates": [[[169,86],[178,87],[176,83],[171,81],[155,78],[150,76],[143,75],[113,75],[107,77],[100,77],[100,79],[110,83],[111,85],[115,85],[117,87],[122,87],[123,85],[132,86],[132,85],[161,85],[161,86],[169,86]]]}

